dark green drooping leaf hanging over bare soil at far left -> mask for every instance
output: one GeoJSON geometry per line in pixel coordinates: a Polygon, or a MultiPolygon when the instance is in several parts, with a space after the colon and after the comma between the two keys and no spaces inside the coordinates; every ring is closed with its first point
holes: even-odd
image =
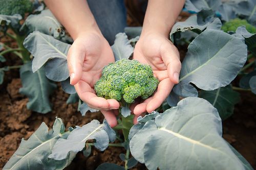
{"type": "Polygon", "coordinates": [[[20,78],[23,87],[19,89],[19,92],[28,96],[28,109],[38,113],[51,111],[49,96],[57,86],[47,79],[44,68],[33,72],[31,62],[29,62],[20,68],[20,78]]]}

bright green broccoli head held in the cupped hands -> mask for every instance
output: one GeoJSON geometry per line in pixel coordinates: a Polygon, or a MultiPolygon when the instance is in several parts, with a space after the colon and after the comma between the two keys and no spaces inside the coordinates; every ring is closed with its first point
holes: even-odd
{"type": "Polygon", "coordinates": [[[105,99],[123,99],[126,103],[133,103],[140,96],[142,99],[150,97],[158,84],[151,66],[137,60],[122,59],[103,68],[94,89],[105,99]]]}

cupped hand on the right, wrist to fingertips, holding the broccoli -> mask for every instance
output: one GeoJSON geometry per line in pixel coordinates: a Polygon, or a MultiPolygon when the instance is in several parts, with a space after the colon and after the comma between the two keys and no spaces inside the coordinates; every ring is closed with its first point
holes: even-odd
{"type": "Polygon", "coordinates": [[[134,108],[132,109],[135,114],[134,123],[137,123],[140,114],[150,113],[160,107],[173,86],[179,83],[181,62],[176,46],[159,33],[141,35],[135,45],[133,59],[151,65],[154,76],[160,81],[157,90],[150,98],[131,106],[134,108]]]}

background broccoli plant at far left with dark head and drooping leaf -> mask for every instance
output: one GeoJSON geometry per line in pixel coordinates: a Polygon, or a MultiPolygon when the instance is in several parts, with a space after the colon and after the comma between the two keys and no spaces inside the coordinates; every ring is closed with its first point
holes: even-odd
{"type": "Polygon", "coordinates": [[[67,40],[65,32],[57,19],[49,10],[43,9],[43,4],[39,4],[37,1],[32,3],[30,0],[1,1],[0,7],[2,37],[11,38],[17,46],[13,48],[9,43],[1,43],[0,62],[5,62],[6,57],[8,57],[7,54],[12,53],[19,57],[23,63],[22,65],[9,65],[0,68],[0,84],[4,82],[5,71],[20,68],[20,78],[23,84],[20,93],[28,96],[28,109],[39,113],[51,111],[49,96],[56,89],[56,85],[45,76],[44,68],[32,72],[32,56],[23,45],[25,37],[33,31],[40,31],[56,39],[67,40]],[[30,15],[23,19],[25,13],[30,15]]]}

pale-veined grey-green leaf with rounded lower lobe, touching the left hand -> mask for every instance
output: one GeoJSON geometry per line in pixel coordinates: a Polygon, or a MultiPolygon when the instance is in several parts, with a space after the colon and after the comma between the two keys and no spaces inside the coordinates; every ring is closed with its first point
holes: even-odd
{"type": "Polygon", "coordinates": [[[46,69],[47,77],[53,81],[65,81],[69,78],[67,54],[70,44],[63,43],[52,36],[36,31],[27,36],[24,40],[24,46],[34,56],[32,62],[33,72],[42,67],[48,60],[54,58],[54,60],[50,60],[48,69],[46,69]],[[54,67],[49,68],[53,65],[54,67]]]}

